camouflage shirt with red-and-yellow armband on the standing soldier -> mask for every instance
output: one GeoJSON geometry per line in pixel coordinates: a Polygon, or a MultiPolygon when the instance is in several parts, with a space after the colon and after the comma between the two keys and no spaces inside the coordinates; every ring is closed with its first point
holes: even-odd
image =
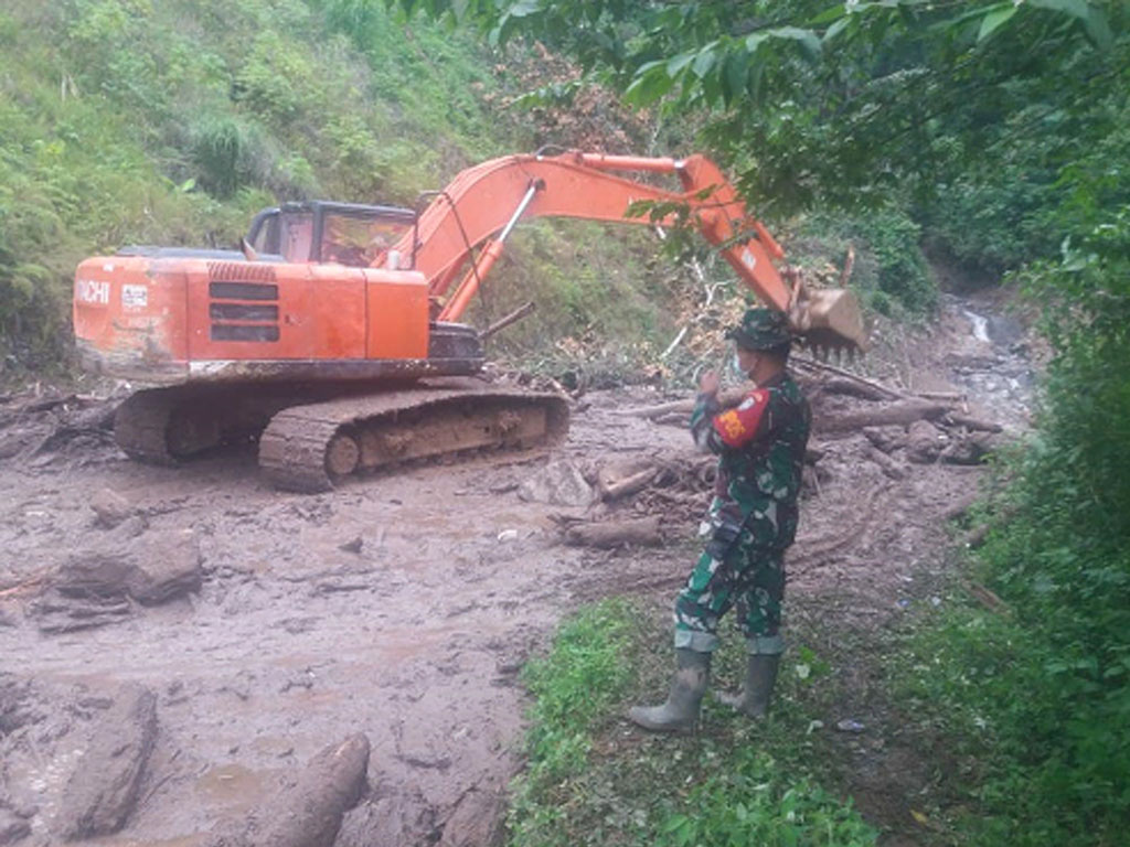
{"type": "Polygon", "coordinates": [[[703,452],[718,454],[710,522],[745,526],[757,547],[781,550],[797,535],[800,477],[811,411],[800,386],[782,372],[720,412],[699,394],[690,433],[703,452]]]}

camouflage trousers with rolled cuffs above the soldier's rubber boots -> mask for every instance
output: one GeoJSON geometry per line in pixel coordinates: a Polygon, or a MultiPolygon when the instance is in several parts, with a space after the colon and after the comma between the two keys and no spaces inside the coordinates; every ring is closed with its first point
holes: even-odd
{"type": "Polygon", "coordinates": [[[742,530],[721,559],[711,548],[698,557],[675,601],[675,646],[710,653],[718,647],[718,623],[734,609],[738,629],[751,654],[784,652],[781,602],[784,599],[784,551],[755,547],[742,530]]]}

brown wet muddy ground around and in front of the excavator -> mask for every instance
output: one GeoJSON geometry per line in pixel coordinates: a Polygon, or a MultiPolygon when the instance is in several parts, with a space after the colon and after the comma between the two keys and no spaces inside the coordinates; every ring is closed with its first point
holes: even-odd
{"type": "MultiPolygon", "coordinates": [[[[1025,425],[1022,333],[992,303],[947,299],[937,329],[880,339],[871,367],[899,391],[959,394],[955,410],[1010,431],[1025,425]]],[[[826,418],[884,405],[819,390],[826,373],[803,375],[826,418]]],[[[589,393],[551,452],[407,468],[302,496],[270,489],[250,447],[177,469],[138,465],[104,429],[112,402],[7,398],[0,845],[67,832],[78,844],[208,844],[356,733],[371,748],[367,781],[333,844],[489,842],[521,767],[522,663],[580,603],[623,593],[666,603],[689,565],[707,497],[698,459],[681,426],[624,413],[672,399],[589,393]],[[667,472],[597,507],[520,496],[550,465],[591,479],[625,459],[667,472]],[[562,542],[563,517],[649,514],[660,515],[664,545],[562,542]],[[90,583],[112,577],[113,590],[90,583]],[[151,717],[123,716],[137,691],[151,692],[151,717]],[[128,796],[103,797],[123,803],[122,829],[88,837],[99,830],[76,811],[87,801],[73,775],[111,718],[133,723],[111,727],[123,741],[110,754],[140,750],[144,768],[128,796]]],[[[944,455],[966,435],[938,421],[936,448],[921,455],[905,426],[814,438],[822,455],[790,565],[794,613],[819,610],[866,634],[929,595],[948,567],[945,516],[984,473],[944,455]]],[[[861,696],[849,708],[870,707],[861,696]]],[[[849,717],[867,722],[825,723],[849,717]]],[[[904,815],[921,761],[897,740],[850,744],[863,811],[904,815]]]]}

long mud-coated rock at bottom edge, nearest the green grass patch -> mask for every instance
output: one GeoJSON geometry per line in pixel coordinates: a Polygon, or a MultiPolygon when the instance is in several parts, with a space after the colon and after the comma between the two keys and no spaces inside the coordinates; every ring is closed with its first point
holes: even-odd
{"type": "Polygon", "coordinates": [[[221,835],[209,847],[331,847],[365,789],[368,751],[368,739],[359,733],[325,748],[244,831],[221,835]]]}

